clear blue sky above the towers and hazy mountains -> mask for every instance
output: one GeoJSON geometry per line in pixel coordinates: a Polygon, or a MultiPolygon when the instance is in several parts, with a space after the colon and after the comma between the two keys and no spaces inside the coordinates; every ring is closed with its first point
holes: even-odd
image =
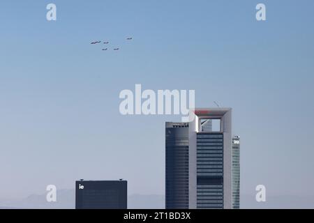
{"type": "Polygon", "coordinates": [[[233,109],[241,193],[312,194],[314,1],[1,1],[0,197],[75,180],[165,193],[165,121],[121,116],[119,93],[193,89],[233,109]],[[255,20],[265,3],[267,21],[255,20]],[[46,5],[57,5],[47,22],[46,5]],[[132,36],[132,41],[126,41],[132,36]],[[94,40],[118,52],[101,51],[94,40]]]}

